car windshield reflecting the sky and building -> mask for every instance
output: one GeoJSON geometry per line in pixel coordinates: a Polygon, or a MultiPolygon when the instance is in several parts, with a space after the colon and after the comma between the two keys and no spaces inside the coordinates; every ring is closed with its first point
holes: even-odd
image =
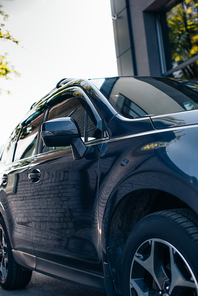
{"type": "Polygon", "coordinates": [[[127,118],[198,109],[198,81],[113,77],[91,79],[91,82],[127,118]]]}

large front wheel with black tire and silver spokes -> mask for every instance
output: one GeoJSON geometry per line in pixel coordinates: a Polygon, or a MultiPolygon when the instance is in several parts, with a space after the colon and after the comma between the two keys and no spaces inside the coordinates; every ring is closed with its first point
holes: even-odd
{"type": "Polygon", "coordinates": [[[146,216],[124,249],[123,296],[198,295],[198,220],[186,210],[146,216]]]}

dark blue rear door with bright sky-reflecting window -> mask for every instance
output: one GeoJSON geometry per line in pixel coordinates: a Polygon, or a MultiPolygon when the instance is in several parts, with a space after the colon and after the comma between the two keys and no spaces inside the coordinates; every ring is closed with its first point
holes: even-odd
{"type": "MultiPolygon", "coordinates": [[[[34,250],[28,168],[36,153],[42,118],[43,111],[37,111],[15,128],[1,160],[0,200],[4,218],[9,224],[12,246],[31,255],[34,255],[34,250]]],[[[29,263],[34,267],[34,260],[29,263]]]]}

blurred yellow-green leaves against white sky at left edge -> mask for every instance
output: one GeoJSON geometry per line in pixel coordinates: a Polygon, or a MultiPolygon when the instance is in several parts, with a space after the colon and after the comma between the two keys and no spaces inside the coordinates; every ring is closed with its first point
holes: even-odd
{"type": "MultiPolygon", "coordinates": [[[[0,22],[0,39],[1,40],[10,40],[13,43],[18,45],[18,40],[16,40],[8,30],[6,30],[5,32],[2,31],[2,28],[5,27],[5,21],[8,20],[8,15],[5,14],[2,10],[2,5],[0,4],[0,17],[2,18],[1,22],[0,22]]],[[[0,55],[0,78],[5,78],[5,79],[10,79],[10,74],[15,74],[16,76],[19,76],[19,73],[14,70],[14,67],[12,65],[10,65],[10,63],[8,61],[6,61],[6,56],[8,54],[5,53],[3,55],[0,55]]],[[[9,91],[8,91],[9,93],[9,91]]],[[[0,94],[1,94],[1,89],[0,89],[0,94]]]]}

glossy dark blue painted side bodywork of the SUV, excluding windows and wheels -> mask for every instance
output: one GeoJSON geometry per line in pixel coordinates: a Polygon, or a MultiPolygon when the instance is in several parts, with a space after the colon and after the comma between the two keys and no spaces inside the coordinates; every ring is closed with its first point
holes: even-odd
{"type": "Polygon", "coordinates": [[[38,135],[34,155],[1,164],[0,212],[19,264],[101,291],[114,268],[119,292],[119,262],[137,221],[177,207],[198,214],[198,110],[129,119],[89,81],[59,86],[21,126],[43,114],[47,146],[78,140],[45,152],[38,135]],[[45,121],[64,91],[88,102],[101,138],[84,143],[70,118],[45,121]]]}

